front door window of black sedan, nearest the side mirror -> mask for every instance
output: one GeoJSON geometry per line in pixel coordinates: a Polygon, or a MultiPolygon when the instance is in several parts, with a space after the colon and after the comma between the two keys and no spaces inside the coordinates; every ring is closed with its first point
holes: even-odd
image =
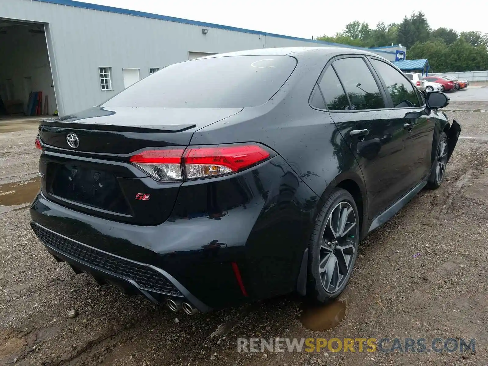
{"type": "Polygon", "coordinates": [[[386,84],[393,108],[420,107],[414,86],[401,72],[383,61],[371,59],[371,63],[386,84]]]}

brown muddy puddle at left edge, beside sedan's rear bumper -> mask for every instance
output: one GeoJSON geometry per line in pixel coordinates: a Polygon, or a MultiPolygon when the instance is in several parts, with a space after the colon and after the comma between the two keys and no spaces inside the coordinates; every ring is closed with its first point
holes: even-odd
{"type": "Polygon", "coordinates": [[[40,185],[40,177],[24,182],[0,184],[0,213],[31,203],[39,192],[40,185]]]}

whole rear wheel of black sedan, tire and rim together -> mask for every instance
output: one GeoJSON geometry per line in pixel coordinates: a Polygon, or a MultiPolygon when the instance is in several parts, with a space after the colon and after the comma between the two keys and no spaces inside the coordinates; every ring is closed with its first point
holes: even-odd
{"type": "MultiPolygon", "coordinates": [[[[338,228],[340,228],[341,224],[342,222],[339,219],[337,227],[335,228],[337,233],[340,231],[338,228]]],[[[359,232],[359,214],[353,197],[345,189],[334,189],[326,199],[317,216],[310,243],[308,244],[307,295],[311,300],[325,304],[330,300],[335,299],[344,290],[356,262],[359,247],[359,232]],[[352,211],[349,211],[349,207],[352,208],[352,211]],[[343,231],[346,231],[346,234],[342,237],[337,236],[337,238],[331,242],[329,239],[333,236],[334,230],[331,228],[330,222],[333,221],[334,218],[340,218],[342,214],[346,212],[345,210],[347,211],[347,217],[343,231]],[[341,214],[337,216],[337,212],[341,214]],[[353,226],[352,217],[354,217],[355,220],[353,226]],[[351,246],[353,247],[352,249],[351,246]],[[327,253],[329,253],[328,257],[327,253]],[[336,264],[332,264],[334,258],[336,264]],[[324,264],[324,261],[326,260],[325,270],[321,269],[321,260],[322,264],[324,264]],[[327,268],[330,269],[332,266],[334,268],[333,271],[329,271],[327,268]],[[344,274],[345,269],[347,269],[346,274],[344,274]],[[329,279],[330,281],[328,281],[329,279]],[[325,283],[330,284],[328,285],[327,290],[325,289],[325,283]]]]}

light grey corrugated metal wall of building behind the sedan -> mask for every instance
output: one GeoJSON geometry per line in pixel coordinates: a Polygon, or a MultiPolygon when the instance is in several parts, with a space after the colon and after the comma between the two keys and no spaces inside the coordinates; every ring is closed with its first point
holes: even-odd
{"type": "Polygon", "coordinates": [[[46,38],[60,115],[97,105],[121,91],[123,68],[139,68],[144,78],[150,67],[187,60],[189,51],[224,53],[264,47],[327,46],[210,27],[203,35],[202,25],[33,0],[1,0],[0,16],[48,23],[46,38]],[[98,67],[112,68],[113,91],[101,90],[98,67]]]}

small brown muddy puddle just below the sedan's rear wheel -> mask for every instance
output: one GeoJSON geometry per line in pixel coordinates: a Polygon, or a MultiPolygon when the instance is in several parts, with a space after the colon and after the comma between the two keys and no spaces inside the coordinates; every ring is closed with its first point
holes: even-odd
{"type": "Polygon", "coordinates": [[[341,323],[346,316],[346,308],[346,303],[342,301],[321,306],[304,306],[300,322],[310,330],[327,330],[341,323]]]}

